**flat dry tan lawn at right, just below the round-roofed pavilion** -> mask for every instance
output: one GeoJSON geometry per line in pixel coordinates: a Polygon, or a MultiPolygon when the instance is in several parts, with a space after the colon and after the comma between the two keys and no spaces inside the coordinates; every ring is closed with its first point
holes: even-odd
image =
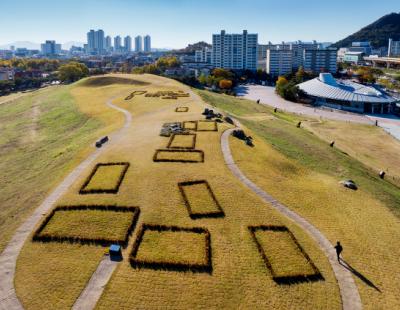
{"type": "Polygon", "coordinates": [[[303,122],[320,138],[335,141],[335,147],[348,153],[387,179],[400,185],[400,142],[382,128],[345,122],[303,122]]]}

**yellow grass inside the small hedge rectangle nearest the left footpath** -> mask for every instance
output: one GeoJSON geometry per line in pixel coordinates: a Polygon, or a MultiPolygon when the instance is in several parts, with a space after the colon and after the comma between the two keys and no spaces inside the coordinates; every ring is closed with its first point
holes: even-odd
{"type": "Polygon", "coordinates": [[[91,190],[112,190],[118,186],[121,175],[125,171],[125,165],[99,166],[89,183],[82,188],[91,190]]]}

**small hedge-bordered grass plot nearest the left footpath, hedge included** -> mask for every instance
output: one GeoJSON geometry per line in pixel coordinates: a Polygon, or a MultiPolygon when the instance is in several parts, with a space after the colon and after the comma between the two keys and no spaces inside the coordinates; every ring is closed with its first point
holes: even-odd
{"type": "Polygon", "coordinates": [[[116,194],[129,163],[98,163],[89,174],[79,194],[116,194]]]}

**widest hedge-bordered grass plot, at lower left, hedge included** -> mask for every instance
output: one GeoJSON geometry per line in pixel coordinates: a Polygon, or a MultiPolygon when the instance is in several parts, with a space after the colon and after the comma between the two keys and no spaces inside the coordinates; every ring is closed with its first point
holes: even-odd
{"type": "Polygon", "coordinates": [[[139,208],[121,206],[59,206],[42,222],[32,240],[126,246],[139,208]]]}

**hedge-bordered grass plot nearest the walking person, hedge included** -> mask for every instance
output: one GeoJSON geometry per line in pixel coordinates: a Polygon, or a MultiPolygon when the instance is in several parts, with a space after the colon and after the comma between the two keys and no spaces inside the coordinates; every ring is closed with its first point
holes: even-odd
{"type": "Polygon", "coordinates": [[[285,226],[251,226],[265,265],[278,284],[322,280],[317,267],[285,226]]]}

